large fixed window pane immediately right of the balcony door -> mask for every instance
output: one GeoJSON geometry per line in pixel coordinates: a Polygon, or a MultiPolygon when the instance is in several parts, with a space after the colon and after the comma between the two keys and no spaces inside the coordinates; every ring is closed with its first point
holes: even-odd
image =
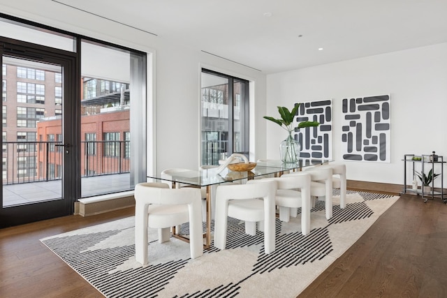
{"type": "MultiPolygon", "coordinates": [[[[141,176],[141,165],[131,167],[135,161],[131,160],[130,151],[133,147],[130,142],[137,142],[136,148],[145,142],[141,137],[131,140],[130,134],[131,127],[135,127],[140,118],[130,121],[131,115],[136,115],[132,109],[138,109],[140,100],[145,98],[142,94],[145,79],[139,70],[145,65],[142,64],[145,57],[87,40],[82,40],[81,47],[81,197],[133,189],[136,179],[146,179],[141,176]],[[119,179],[120,183],[108,182],[107,186],[94,189],[82,183],[84,177],[103,175],[119,179]]],[[[136,127],[142,129],[141,125],[136,127]]]]}

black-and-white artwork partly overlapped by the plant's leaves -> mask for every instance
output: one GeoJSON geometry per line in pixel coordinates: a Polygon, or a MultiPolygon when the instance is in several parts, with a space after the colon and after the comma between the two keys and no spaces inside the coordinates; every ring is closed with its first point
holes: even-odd
{"type": "Polygon", "coordinates": [[[320,126],[300,128],[295,137],[301,144],[300,158],[332,159],[332,100],[301,103],[296,121],[318,121],[320,126]]]}

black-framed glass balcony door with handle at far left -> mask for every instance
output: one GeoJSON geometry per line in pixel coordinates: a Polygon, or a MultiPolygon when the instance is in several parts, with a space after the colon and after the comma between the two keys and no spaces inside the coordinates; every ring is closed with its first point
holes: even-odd
{"type": "Polygon", "coordinates": [[[75,54],[8,38],[0,42],[0,228],[73,214],[80,193],[75,54]]]}

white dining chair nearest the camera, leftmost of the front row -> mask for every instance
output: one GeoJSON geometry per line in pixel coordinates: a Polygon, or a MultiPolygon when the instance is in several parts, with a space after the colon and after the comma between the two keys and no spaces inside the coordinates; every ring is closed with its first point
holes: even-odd
{"type": "Polygon", "coordinates": [[[203,255],[200,189],[169,188],[168,184],[147,182],[135,185],[135,260],[148,264],[148,228],[159,229],[159,243],[169,241],[170,228],[189,222],[191,259],[203,255]]]}

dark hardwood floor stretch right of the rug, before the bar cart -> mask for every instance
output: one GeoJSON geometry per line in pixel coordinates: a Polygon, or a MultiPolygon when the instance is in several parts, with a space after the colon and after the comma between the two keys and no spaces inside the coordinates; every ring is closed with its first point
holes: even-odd
{"type": "Polygon", "coordinates": [[[402,195],[298,297],[447,297],[447,205],[402,195]]]}

